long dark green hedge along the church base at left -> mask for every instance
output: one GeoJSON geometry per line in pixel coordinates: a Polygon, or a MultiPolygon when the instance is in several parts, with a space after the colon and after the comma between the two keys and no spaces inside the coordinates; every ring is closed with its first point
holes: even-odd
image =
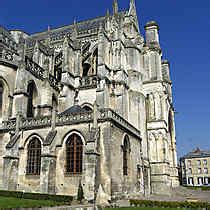
{"type": "Polygon", "coordinates": [[[71,203],[73,200],[73,196],[67,196],[67,195],[52,195],[52,194],[28,193],[20,191],[5,191],[5,190],[0,190],[0,196],[33,199],[33,200],[53,200],[56,202],[64,202],[64,203],[71,203]]]}

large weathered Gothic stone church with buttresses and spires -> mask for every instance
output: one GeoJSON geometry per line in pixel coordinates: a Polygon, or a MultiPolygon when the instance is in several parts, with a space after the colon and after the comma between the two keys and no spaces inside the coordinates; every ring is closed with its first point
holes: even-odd
{"type": "Polygon", "coordinates": [[[179,185],[169,62],[136,6],[27,34],[0,27],[0,189],[107,200],[179,185]]]}

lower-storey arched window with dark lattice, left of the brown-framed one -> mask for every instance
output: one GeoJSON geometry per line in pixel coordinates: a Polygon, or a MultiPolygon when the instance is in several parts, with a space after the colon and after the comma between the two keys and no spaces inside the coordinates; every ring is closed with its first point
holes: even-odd
{"type": "Polygon", "coordinates": [[[26,173],[28,175],[40,175],[41,167],[41,142],[33,138],[28,144],[28,156],[26,173]]]}

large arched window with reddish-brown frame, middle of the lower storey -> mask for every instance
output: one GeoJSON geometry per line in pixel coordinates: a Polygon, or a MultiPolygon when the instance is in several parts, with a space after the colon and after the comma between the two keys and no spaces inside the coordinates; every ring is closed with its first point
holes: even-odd
{"type": "Polygon", "coordinates": [[[71,135],[66,142],[66,173],[82,173],[82,139],[76,135],[71,135]]]}

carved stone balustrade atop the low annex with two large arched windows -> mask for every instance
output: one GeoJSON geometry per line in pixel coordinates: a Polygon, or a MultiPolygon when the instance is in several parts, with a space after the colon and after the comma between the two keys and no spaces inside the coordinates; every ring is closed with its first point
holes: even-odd
{"type": "MultiPolygon", "coordinates": [[[[140,131],[126,121],[123,117],[118,115],[111,109],[101,109],[98,112],[98,122],[112,121],[117,126],[124,128],[127,132],[140,138],[140,131]]],[[[93,112],[80,112],[72,113],[68,115],[57,114],[56,126],[73,125],[79,123],[93,122],[93,112]]],[[[38,128],[50,127],[52,124],[51,116],[45,116],[40,118],[20,118],[19,128],[20,130],[31,130],[38,128]]],[[[0,127],[0,132],[12,131],[16,128],[16,121],[9,120],[4,121],[0,127]]]]}

